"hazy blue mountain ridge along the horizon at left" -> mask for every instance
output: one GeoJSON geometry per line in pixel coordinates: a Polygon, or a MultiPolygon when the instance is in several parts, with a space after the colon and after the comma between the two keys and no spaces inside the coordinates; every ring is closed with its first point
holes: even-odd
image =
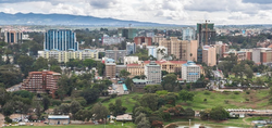
{"type": "Polygon", "coordinates": [[[95,16],[71,14],[37,14],[0,12],[0,25],[90,25],[90,26],[175,26],[173,24],[158,24],[149,22],[122,21],[95,16]]]}

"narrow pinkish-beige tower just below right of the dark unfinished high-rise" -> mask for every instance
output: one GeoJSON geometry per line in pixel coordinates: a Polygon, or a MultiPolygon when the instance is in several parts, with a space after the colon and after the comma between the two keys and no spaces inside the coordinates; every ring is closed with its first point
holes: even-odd
{"type": "Polygon", "coordinates": [[[217,49],[214,46],[203,46],[202,62],[208,66],[217,65],[217,49]]]}

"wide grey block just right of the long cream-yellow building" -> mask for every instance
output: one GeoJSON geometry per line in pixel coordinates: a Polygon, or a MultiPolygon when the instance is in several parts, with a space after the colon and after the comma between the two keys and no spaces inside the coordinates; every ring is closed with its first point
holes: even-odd
{"type": "Polygon", "coordinates": [[[124,56],[126,56],[126,50],[106,50],[104,56],[113,59],[118,63],[124,63],[124,56]]]}

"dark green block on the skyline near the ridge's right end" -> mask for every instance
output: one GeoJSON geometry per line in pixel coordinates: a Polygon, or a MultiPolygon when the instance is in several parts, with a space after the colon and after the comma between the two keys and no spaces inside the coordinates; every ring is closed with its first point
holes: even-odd
{"type": "Polygon", "coordinates": [[[137,37],[138,30],[136,28],[118,28],[118,34],[120,37],[134,39],[134,37],[137,37]]]}

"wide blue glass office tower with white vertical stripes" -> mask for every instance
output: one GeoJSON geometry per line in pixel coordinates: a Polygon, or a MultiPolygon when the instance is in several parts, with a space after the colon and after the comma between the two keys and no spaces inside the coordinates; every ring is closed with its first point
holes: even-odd
{"type": "Polygon", "coordinates": [[[76,34],[70,29],[49,29],[45,34],[45,50],[78,50],[76,34]]]}

